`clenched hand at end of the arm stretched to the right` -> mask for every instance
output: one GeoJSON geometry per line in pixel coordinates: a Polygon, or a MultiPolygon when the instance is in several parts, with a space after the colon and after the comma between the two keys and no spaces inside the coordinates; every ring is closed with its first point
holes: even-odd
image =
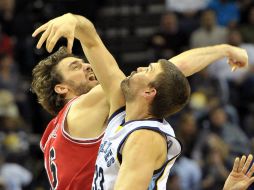
{"type": "Polygon", "coordinates": [[[232,71],[237,68],[248,66],[248,55],[245,49],[230,46],[228,51],[228,64],[231,66],[232,71]]]}

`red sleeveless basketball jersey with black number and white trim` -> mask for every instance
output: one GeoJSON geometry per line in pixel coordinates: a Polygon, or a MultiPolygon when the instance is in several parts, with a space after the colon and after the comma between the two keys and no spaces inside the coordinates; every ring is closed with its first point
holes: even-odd
{"type": "Polygon", "coordinates": [[[54,190],[90,190],[93,181],[103,134],[94,139],[73,138],[64,130],[66,115],[75,100],[68,102],[51,120],[40,142],[44,165],[54,190]]]}

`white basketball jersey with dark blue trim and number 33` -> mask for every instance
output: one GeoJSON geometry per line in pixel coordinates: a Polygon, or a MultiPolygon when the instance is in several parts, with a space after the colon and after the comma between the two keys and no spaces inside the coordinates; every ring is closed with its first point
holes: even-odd
{"type": "Polygon", "coordinates": [[[102,139],[92,190],[113,190],[122,162],[122,149],[128,136],[140,129],[156,131],[167,137],[168,155],[163,166],[154,171],[149,190],[165,189],[168,175],[175,159],[181,153],[181,144],[175,138],[174,130],[166,120],[148,119],[134,120],[124,123],[125,110],[121,108],[109,119],[107,129],[102,139]]]}

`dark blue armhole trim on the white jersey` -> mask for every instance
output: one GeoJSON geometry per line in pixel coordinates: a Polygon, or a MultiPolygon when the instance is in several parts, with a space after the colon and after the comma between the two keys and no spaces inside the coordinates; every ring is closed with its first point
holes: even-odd
{"type": "MultiPolygon", "coordinates": [[[[168,136],[170,136],[170,137],[176,139],[176,140],[178,141],[178,143],[180,144],[180,147],[181,147],[180,153],[177,154],[176,156],[174,156],[172,159],[167,160],[167,161],[162,165],[161,168],[159,168],[159,169],[157,169],[157,170],[154,170],[154,175],[156,175],[157,173],[159,173],[161,170],[164,169],[164,167],[168,164],[168,162],[170,162],[170,161],[173,160],[174,158],[178,157],[178,156],[182,153],[182,143],[181,143],[177,138],[175,138],[174,136],[172,136],[172,135],[170,135],[170,134],[168,134],[168,133],[166,133],[166,132],[160,130],[158,127],[142,126],[142,127],[136,128],[136,129],[130,131],[129,133],[127,133],[127,135],[123,138],[123,140],[120,142],[120,144],[119,144],[119,146],[118,146],[118,148],[117,148],[117,159],[118,159],[120,165],[122,164],[122,154],[120,153],[121,147],[123,146],[124,142],[126,141],[126,139],[129,137],[129,135],[130,135],[131,133],[133,133],[134,131],[140,130],[140,129],[148,129],[148,130],[151,130],[151,131],[158,132],[158,133],[160,133],[160,134],[166,134],[166,135],[168,135],[168,136]]],[[[169,146],[168,146],[168,141],[167,141],[167,147],[169,147],[169,146]]],[[[167,150],[168,150],[168,149],[167,149],[167,150]]]]}

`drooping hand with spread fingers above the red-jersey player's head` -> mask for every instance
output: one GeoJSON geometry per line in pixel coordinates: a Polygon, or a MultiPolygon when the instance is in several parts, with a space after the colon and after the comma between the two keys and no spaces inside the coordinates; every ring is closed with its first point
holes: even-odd
{"type": "Polygon", "coordinates": [[[75,16],[68,13],[43,24],[32,34],[33,37],[36,37],[38,34],[43,32],[36,47],[38,49],[41,48],[43,43],[46,41],[46,49],[50,53],[57,41],[61,37],[65,37],[67,39],[67,50],[71,53],[77,22],[78,21],[75,16]]]}

